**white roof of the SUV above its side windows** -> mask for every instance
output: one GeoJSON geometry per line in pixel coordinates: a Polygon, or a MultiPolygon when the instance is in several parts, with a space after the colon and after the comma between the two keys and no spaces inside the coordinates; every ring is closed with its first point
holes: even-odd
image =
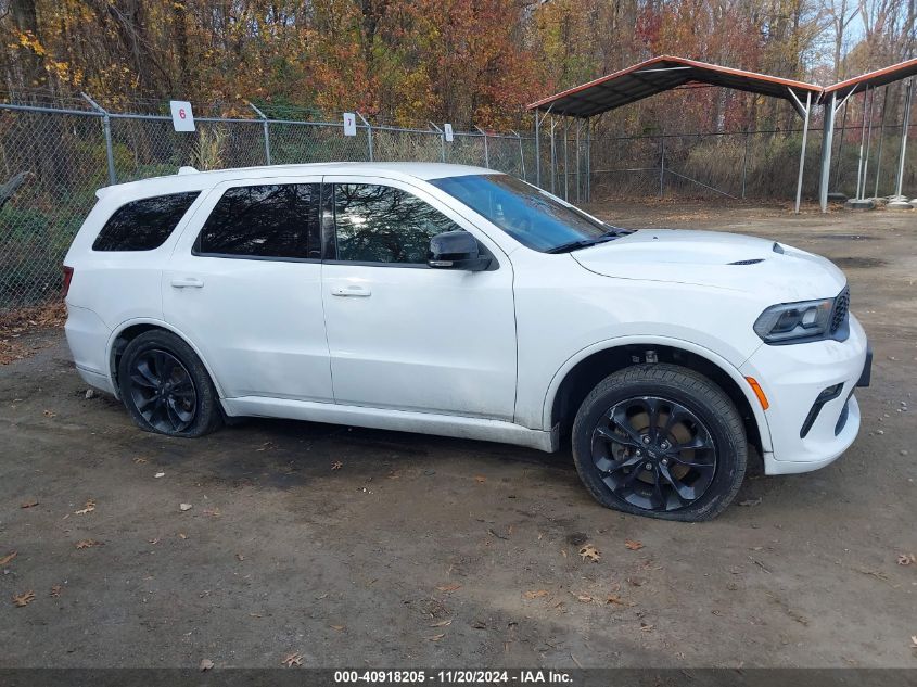
{"type": "MultiPolygon", "coordinates": [[[[222,181],[267,179],[272,177],[298,176],[307,174],[320,175],[382,175],[393,177],[411,177],[415,179],[441,179],[443,177],[461,177],[474,174],[500,174],[495,169],[473,167],[470,165],[450,165],[430,162],[322,162],[301,165],[270,165],[263,167],[234,167],[231,169],[215,169],[213,171],[194,171],[187,167],[180,174],[163,177],[152,177],[138,181],[128,181],[105,187],[97,191],[97,195],[107,195],[115,191],[131,192],[142,189],[163,192],[158,187],[177,188],[184,191],[208,189],[222,181]]],[[[174,192],[174,191],[173,191],[174,192]]]]}

